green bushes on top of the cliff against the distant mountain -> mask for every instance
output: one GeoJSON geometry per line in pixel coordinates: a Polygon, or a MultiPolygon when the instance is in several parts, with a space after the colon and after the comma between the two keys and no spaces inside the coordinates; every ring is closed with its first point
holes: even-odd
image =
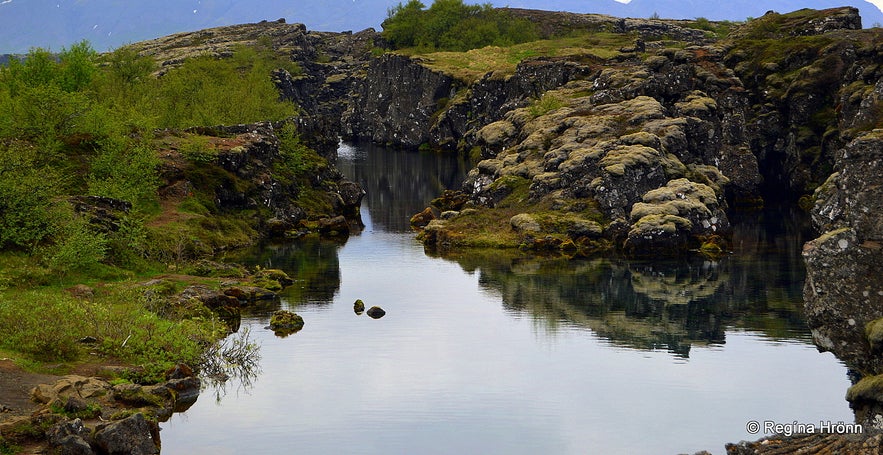
{"type": "Polygon", "coordinates": [[[513,18],[490,3],[467,5],[462,0],[435,0],[424,8],[419,0],[410,0],[389,9],[383,36],[393,48],[467,51],[490,45],[511,46],[539,37],[531,22],[513,18]]]}

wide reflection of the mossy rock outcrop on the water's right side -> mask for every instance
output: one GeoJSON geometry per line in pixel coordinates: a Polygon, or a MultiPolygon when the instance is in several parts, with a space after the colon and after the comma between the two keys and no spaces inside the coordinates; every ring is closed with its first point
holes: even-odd
{"type": "MultiPolygon", "coordinates": [[[[799,223],[795,226],[800,227],[799,223]]],[[[538,259],[499,251],[448,256],[506,308],[554,332],[584,327],[619,346],[665,349],[724,343],[729,327],[773,339],[809,340],[802,317],[802,236],[743,222],[741,251],[718,262],[538,259]],[[750,248],[748,247],[750,245],[750,248]]]]}

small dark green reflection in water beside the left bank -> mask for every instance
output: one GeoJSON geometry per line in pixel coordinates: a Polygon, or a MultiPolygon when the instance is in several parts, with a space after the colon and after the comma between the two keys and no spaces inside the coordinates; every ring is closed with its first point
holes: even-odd
{"type": "Polygon", "coordinates": [[[244,251],[240,262],[285,271],[294,280],[294,284],[281,293],[288,302],[325,305],[340,289],[337,253],[345,242],[303,238],[284,244],[266,244],[244,251]]]}

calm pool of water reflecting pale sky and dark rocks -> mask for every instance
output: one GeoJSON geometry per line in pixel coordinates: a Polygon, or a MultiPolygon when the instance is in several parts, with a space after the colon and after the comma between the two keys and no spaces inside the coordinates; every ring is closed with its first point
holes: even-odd
{"type": "Polygon", "coordinates": [[[456,160],[340,156],[365,230],[245,258],[297,277],[280,306],[306,327],[244,316],[260,373],[163,424],[164,454],[723,453],[760,436],[750,420],[852,421],[846,369],[800,316],[793,214],[746,217],[717,263],[434,258],[407,219],[462,179],[456,160]]]}

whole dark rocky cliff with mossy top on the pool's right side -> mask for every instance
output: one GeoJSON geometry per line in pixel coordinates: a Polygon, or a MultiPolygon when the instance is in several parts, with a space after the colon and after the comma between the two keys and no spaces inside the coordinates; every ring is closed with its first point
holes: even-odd
{"type": "MultiPolygon", "coordinates": [[[[684,23],[513,11],[549,35],[570,27],[627,44],[472,79],[439,69],[432,60],[443,56],[386,55],[353,86],[342,130],[470,155],[469,202],[445,208],[539,219],[527,230],[507,223],[515,245],[725,249],[733,210],[808,196],[835,151],[878,121],[861,106],[880,76],[879,33],[858,30],[851,8],[770,13],[721,40],[684,23]],[[522,203],[507,200],[520,187],[522,203]],[[581,213],[587,205],[596,210],[581,213]]],[[[424,239],[468,245],[463,224],[449,214],[424,239]]]]}

